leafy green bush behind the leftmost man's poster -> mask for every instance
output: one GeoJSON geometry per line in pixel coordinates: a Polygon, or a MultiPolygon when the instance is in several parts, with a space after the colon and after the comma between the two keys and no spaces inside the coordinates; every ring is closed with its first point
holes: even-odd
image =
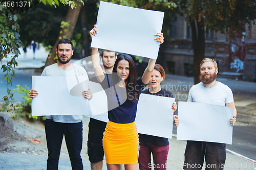
{"type": "MultiPolygon", "coordinates": [[[[33,120],[45,120],[46,116],[32,116],[31,113],[31,101],[32,98],[29,96],[29,89],[27,85],[23,85],[24,87],[20,85],[16,85],[17,88],[13,89],[13,91],[17,91],[18,94],[23,94],[22,98],[25,99],[25,101],[22,101],[22,103],[17,103],[14,107],[15,110],[17,110],[17,113],[15,116],[28,116],[29,118],[33,118],[33,120]]],[[[14,118],[15,118],[14,116],[14,118]]]]}

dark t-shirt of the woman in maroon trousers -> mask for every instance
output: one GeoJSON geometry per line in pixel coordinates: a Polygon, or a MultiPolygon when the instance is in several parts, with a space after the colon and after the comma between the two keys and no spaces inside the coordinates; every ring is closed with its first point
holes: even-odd
{"type": "MultiPolygon", "coordinates": [[[[151,93],[149,88],[143,90],[141,93],[165,96],[167,98],[173,98],[173,94],[163,88],[160,91],[158,91],[157,93],[151,93]]],[[[139,141],[140,141],[140,144],[143,144],[143,145],[163,146],[163,145],[169,144],[168,138],[152,136],[152,135],[145,135],[145,134],[140,134],[140,133],[139,133],[139,141]]]]}

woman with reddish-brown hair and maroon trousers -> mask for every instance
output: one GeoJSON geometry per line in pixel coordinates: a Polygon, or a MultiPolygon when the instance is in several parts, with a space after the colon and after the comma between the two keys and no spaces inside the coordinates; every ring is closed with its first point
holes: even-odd
{"type": "MultiPolygon", "coordinates": [[[[154,70],[150,78],[150,88],[145,89],[142,93],[165,96],[167,98],[173,98],[173,94],[160,87],[161,81],[165,78],[165,71],[159,64],[155,64],[154,70]]],[[[177,109],[176,102],[172,106],[174,112],[177,109]]],[[[170,113],[173,114],[173,113],[170,113]]],[[[177,115],[173,116],[175,125],[179,125],[179,119],[177,115]]],[[[166,169],[167,154],[169,151],[168,138],[139,134],[140,152],[139,152],[139,167],[140,170],[150,170],[148,166],[151,163],[151,153],[154,159],[154,165],[158,165],[155,169],[166,169]]]]}

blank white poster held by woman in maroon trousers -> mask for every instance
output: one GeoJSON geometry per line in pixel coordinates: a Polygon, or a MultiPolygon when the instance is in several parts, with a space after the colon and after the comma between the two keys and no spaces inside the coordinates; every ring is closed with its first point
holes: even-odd
{"type": "Polygon", "coordinates": [[[141,94],[137,107],[138,133],[172,139],[175,98],[141,94]]]}

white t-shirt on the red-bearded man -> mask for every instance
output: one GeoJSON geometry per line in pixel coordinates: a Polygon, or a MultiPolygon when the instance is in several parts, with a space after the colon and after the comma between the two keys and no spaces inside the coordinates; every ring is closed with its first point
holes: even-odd
{"type": "Polygon", "coordinates": [[[233,102],[233,93],[225,84],[218,82],[215,87],[206,88],[202,82],[191,87],[187,102],[207,103],[225,106],[225,103],[233,102]]]}

